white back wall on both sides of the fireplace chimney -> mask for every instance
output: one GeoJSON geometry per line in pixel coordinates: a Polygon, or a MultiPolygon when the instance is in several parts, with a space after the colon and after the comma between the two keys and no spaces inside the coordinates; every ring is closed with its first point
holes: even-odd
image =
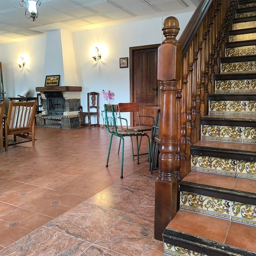
{"type": "MultiPolygon", "coordinates": [[[[180,23],[178,38],[192,15],[193,12],[174,15],[180,23]]],[[[164,39],[161,30],[165,18],[157,17],[73,33],[72,51],[74,50],[75,55],[78,84],[70,85],[82,86],[83,107],[87,105],[87,92],[96,91],[100,92],[100,104],[103,110],[105,103],[101,94],[103,89],[115,92],[113,103],[130,101],[129,68],[120,69],[119,58],[129,57],[130,47],[161,44],[164,39]],[[90,50],[95,44],[104,44],[108,50],[108,55],[102,53],[102,58],[97,62],[90,55],[90,50]]],[[[8,97],[14,97],[26,88],[30,89],[29,96],[35,96],[35,87],[44,86],[46,41],[47,34],[42,34],[36,39],[0,46],[6,101],[8,97]],[[19,69],[17,60],[22,53],[28,54],[30,63],[26,63],[24,69],[19,69]]],[[[74,71],[72,69],[67,72],[74,71]]],[[[55,70],[52,70],[52,74],[49,75],[56,74],[55,70]]]]}

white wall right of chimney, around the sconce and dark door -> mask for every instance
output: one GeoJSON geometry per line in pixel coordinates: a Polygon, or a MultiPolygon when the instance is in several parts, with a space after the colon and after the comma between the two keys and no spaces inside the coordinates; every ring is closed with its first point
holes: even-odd
{"type": "MultiPolygon", "coordinates": [[[[175,15],[180,23],[181,32],[187,25],[193,12],[175,15]]],[[[82,86],[81,104],[87,104],[87,92],[100,92],[100,103],[106,101],[102,90],[114,91],[113,103],[130,101],[129,68],[119,68],[119,58],[129,57],[129,48],[135,46],[161,44],[162,24],[166,17],[157,17],[111,27],[87,30],[73,34],[78,84],[82,86]],[[105,44],[108,55],[95,61],[90,56],[94,45],[105,44]]],[[[99,49],[100,50],[100,49],[99,49]]]]}

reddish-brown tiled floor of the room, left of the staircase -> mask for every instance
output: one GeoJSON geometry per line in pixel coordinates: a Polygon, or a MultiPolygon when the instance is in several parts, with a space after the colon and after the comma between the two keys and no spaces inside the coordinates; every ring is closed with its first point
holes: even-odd
{"type": "MultiPolygon", "coordinates": [[[[0,254],[164,255],[154,239],[157,172],[132,160],[118,139],[105,167],[107,130],[36,127],[26,142],[0,153],[0,254]]],[[[143,145],[146,148],[146,145],[143,145]]]]}

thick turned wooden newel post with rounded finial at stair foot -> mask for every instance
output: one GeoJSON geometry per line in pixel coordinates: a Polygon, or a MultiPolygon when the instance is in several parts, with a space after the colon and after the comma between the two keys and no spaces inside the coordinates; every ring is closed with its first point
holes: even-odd
{"type": "Polygon", "coordinates": [[[181,48],[176,36],[179,22],[175,17],[164,20],[165,40],[158,48],[158,74],[160,80],[161,115],[159,145],[159,176],[155,190],[155,239],[162,233],[177,212],[178,180],[175,179],[176,144],[176,92],[181,78],[181,48]]]}

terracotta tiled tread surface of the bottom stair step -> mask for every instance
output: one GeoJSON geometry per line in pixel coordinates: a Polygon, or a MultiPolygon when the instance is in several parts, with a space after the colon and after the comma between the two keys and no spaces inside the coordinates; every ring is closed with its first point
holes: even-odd
{"type": "Polygon", "coordinates": [[[229,220],[180,209],[164,231],[163,237],[165,243],[168,243],[168,236],[170,239],[169,243],[172,243],[174,236],[171,236],[171,230],[176,231],[181,243],[185,241],[186,237],[184,234],[193,237],[194,239],[190,237],[191,241],[188,242],[188,246],[191,245],[191,242],[198,245],[200,238],[203,238],[201,242],[202,247],[205,247],[205,249],[208,249],[211,245],[225,252],[228,250],[227,247],[229,247],[231,250],[234,249],[233,255],[255,255],[253,253],[256,251],[256,243],[254,241],[255,226],[243,225],[241,223],[230,222],[229,220]],[[241,239],[241,236],[238,236],[239,233],[243,235],[243,239],[241,239]],[[216,243],[212,244],[207,240],[215,241],[216,243]],[[220,243],[219,246],[218,243],[220,243]],[[252,253],[245,254],[245,251],[239,252],[233,247],[249,250],[252,253]]]}

